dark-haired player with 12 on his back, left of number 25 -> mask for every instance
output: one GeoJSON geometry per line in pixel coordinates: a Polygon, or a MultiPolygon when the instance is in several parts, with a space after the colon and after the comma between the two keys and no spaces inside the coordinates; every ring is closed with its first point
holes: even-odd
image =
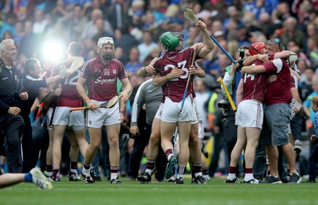
{"type": "MultiPolygon", "coordinates": [[[[72,62],[76,61],[74,58],[82,55],[82,44],[79,42],[71,42],[68,45],[67,53],[68,60],[55,65],[52,69],[52,76],[57,75],[59,73],[59,69],[63,66],[67,69],[71,67],[72,62]]],[[[61,84],[60,88],[62,90],[60,95],[56,96],[53,100],[53,103],[56,103],[54,105],[54,115],[52,116],[52,112],[48,113],[48,115],[52,116],[51,122],[53,125],[53,139],[50,141],[50,143],[52,143],[53,170],[52,176],[50,176],[52,181],[60,181],[59,167],[61,163],[61,147],[65,131],[67,132],[70,142],[70,171],[68,172],[68,178],[70,181],[79,180],[79,176],[77,175],[78,152],[80,149],[82,155],[84,155],[88,147],[84,132],[84,111],[68,112],[72,107],[84,106],[84,102],[76,90],[76,83],[80,75],[80,68],[81,67],[78,67],[72,73],[68,72],[68,78],[63,82],[63,84],[61,84]]]]}

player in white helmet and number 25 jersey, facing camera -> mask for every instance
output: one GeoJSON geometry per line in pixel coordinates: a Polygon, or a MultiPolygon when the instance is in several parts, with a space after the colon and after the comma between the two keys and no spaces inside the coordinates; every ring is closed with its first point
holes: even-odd
{"type": "Polygon", "coordinates": [[[123,64],[113,58],[114,40],[110,37],[100,38],[97,46],[98,56],[84,64],[76,86],[78,93],[90,108],[86,115],[86,125],[89,127],[91,143],[85,153],[82,175],[84,183],[94,183],[90,176],[90,164],[101,143],[101,128],[105,126],[110,145],[111,184],[121,184],[117,177],[120,157],[118,138],[121,123],[119,104],[116,103],[114,107],[109,109],[97,109],[96,105],[108,102],[117,95],[117,78],[124,86],[119,98],[122,97],[125,103],[132,86],[123,64]],[[84,88],[85,85],[88,86],[88,95],[84,88]]]}

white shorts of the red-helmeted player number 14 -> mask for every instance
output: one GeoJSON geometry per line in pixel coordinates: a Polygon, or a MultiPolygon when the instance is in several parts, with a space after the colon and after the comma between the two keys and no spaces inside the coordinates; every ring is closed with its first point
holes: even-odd
{"type": "Polygon", "coordinates": [[[263,127],[263,105],[252,100],[242,101],[236,112],[235,125],[242,127],[263,127]]]}

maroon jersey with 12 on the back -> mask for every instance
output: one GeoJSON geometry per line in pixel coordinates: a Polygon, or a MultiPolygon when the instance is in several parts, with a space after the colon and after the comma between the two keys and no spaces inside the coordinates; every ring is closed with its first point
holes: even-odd
{"type": "MultiPolygon", "coordinates": [[[[66,61],[55,65],[52,69],[52,75],[56,76],[59,74],[60,67],[65,65],[68,69],[70,64],[66,61]]],[[[82,107],[84,106],[83,99],[76,90],[76,83],[80,75],[80,69],[75,70],[67,79],[65,79],[62,85],[62,92],[60,96],[57,96],[57,106],[59,107],[82,107]]]]}

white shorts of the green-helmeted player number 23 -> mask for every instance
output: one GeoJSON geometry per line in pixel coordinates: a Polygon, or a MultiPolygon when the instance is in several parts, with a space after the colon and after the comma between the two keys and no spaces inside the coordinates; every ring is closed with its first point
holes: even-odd
{"type": "Polygon", "coordinates": [[[187,96],[184,100],[182,112],[180,112],[182,101],[173,102],[169,97],[166,97],[163,104],[161,121],[166,123],[176,122],[192,122],[192,100],[187,96]]]}

